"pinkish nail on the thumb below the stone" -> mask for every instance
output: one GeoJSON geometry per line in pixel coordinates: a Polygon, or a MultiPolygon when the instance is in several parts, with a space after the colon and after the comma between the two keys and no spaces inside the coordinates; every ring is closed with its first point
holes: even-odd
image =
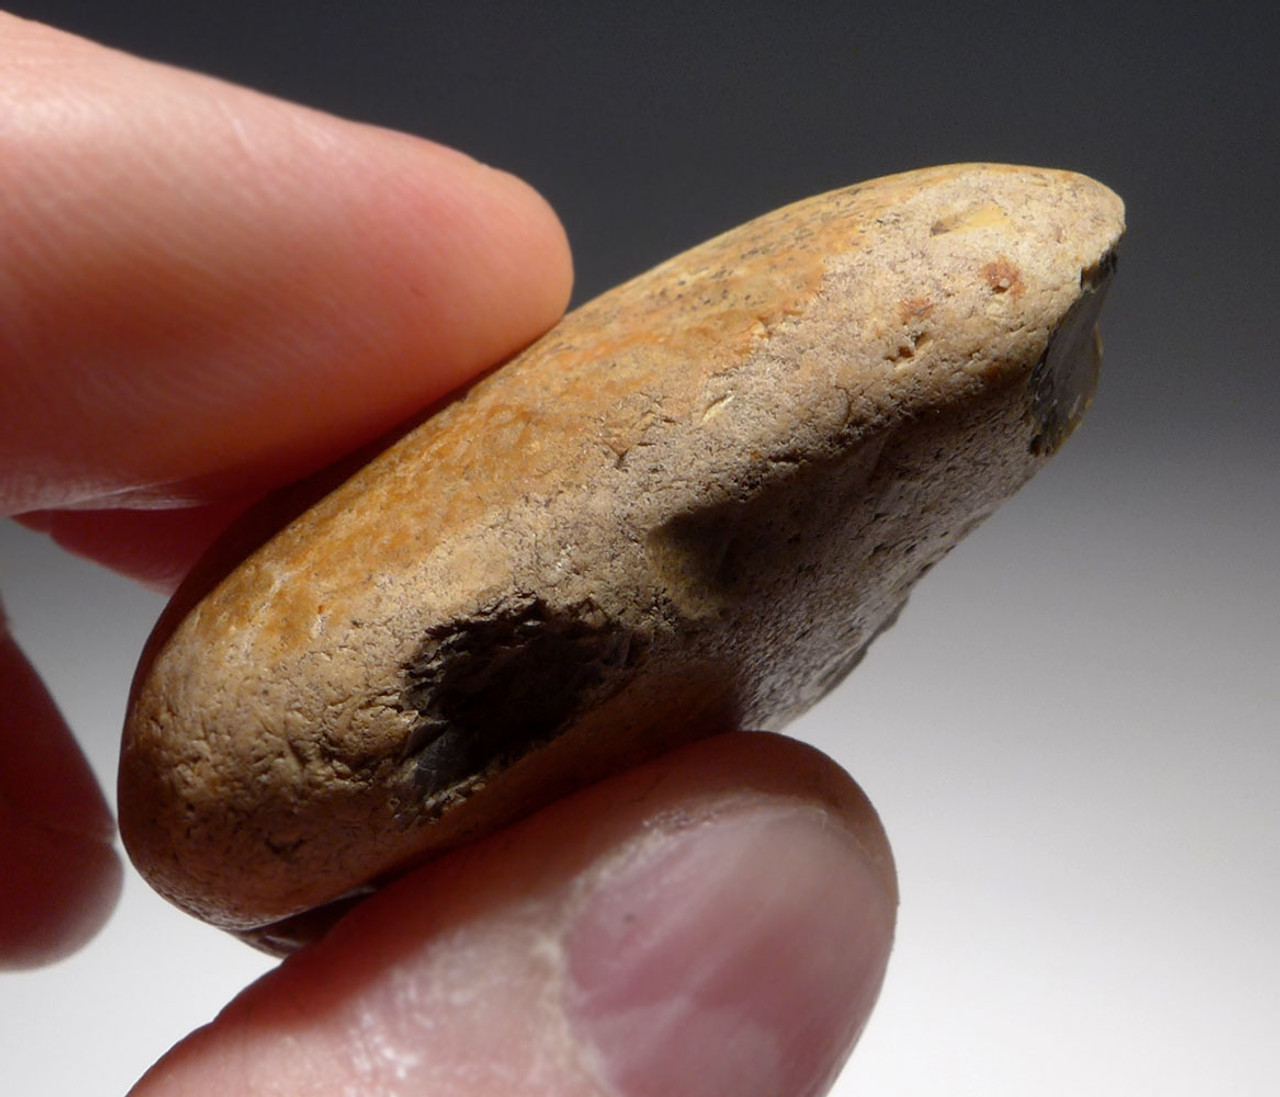
{"type": "Polygon", "coordinates": [[[819,808],[659,826],[585,896],[566,1013],[618,1097],[818,1094],[872,1011],[892,925],[882,876],[819,808]]]}

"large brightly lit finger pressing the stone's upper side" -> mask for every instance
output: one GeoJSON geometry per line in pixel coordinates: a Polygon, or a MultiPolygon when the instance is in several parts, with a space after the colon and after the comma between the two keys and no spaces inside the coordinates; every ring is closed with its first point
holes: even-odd
{"type": "Polygon", "coordinates": [[[558,317],[563,232],[426,141],[0,15],[0,512],[250,497],[558,317]]]}

